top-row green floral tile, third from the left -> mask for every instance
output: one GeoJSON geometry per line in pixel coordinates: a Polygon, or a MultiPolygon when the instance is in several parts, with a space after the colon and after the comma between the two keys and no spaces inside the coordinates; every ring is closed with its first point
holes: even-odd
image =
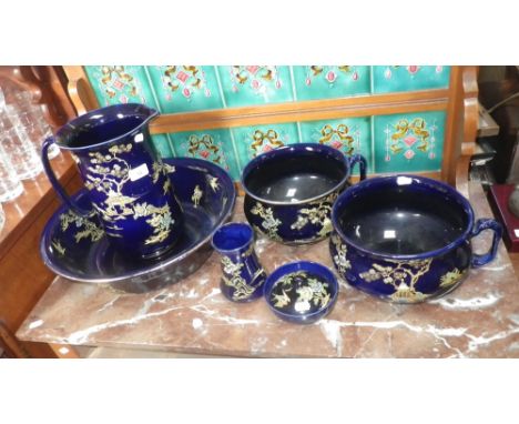
{"type": "Polygon", "coordinates": [[[294,100],[289,67],[217,67],[228,108],[294,100]]]}

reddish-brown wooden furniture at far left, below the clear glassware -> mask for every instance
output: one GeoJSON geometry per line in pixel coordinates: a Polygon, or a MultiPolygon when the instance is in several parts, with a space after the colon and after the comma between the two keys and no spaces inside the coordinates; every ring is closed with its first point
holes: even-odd
{"type": "MultiPolygon", "coordinates": [[[[51,161],[61,184],[70,192],[80,186],[75,163],[60,154],[51,161]]],[[[52,346],[20,342],[14,333],[52,282],[54,274],[40,256],[40,236],[60,205],[47,175],[23,182],[24,192],[3,203],[6,225],[0,233],[0,347],[12,357],[55,357],[52,346]]]]}

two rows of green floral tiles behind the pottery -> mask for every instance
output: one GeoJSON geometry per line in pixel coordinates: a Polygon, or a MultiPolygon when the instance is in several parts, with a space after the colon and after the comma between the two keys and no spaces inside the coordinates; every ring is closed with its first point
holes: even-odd
{"type": "MultiPolygon", "coordinates": [[[[140,102],[161,113],[439,89],[450,75],[441,65],[84,68],[101,105],[140,102]]],[[[369,173],[438,171],[445,119],[445,112],[407,113],[156,134],[153,141],[165,158],[208,160],[234,180],[255,155],[299,142],[360,153],[369,173]]]]}

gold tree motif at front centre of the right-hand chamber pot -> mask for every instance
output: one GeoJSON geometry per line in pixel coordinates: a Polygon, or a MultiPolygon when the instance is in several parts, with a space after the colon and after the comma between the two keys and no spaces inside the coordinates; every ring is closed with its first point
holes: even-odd
{"type": "Polygon", "coordinates": [[[370,283],[381,280],[385,284],[393,285],[395,293],[390,299],[400,303],[420,302],[429,296],[429,294],[418,292],[415,289],[416,283],[421,275],[429,272],[432,259],[419,261],[386,261],[394,263],[395,266],[383,266],[378,263],[373,263],[367,272],[359,274],[360,279],[370,283]]]}

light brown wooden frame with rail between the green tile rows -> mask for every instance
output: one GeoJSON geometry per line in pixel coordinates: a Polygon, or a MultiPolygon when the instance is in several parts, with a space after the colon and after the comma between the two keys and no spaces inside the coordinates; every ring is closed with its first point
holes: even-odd
{"type": "MultiPolygon", "coordinates": [[[[64,67],[64,71],[69,78],[69,94],[78,113],[99,108],[84,69],[64,67]]],[[[458,158],[474,150],[478,119],[477,92],[476,67],[451,67],[448,89],[162,114],[150,128],[153,134],[160,134],[445,110],[447,122],[441,172],[427,174],[454,185],[458,158]]]]}

